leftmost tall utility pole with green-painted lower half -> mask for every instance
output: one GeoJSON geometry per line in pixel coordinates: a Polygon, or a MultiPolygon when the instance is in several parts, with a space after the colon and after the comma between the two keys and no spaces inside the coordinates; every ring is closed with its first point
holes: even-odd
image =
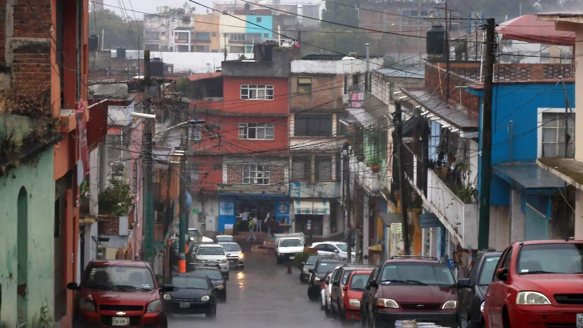
{"type": "MultiPolygon", "coordinates": [[[[144,84],[145,99],[143,111],[145,114],[152,114],[152,104],[150,101],[150,51],[144,51],[144,84]]],[[[144,257],[150,264],[154,262],[154,204],[152,194],[152,120],[144,120],[142,135],[142,153],[144,156],[143,174],[143,200],[144,200],[144,257]]]]}

